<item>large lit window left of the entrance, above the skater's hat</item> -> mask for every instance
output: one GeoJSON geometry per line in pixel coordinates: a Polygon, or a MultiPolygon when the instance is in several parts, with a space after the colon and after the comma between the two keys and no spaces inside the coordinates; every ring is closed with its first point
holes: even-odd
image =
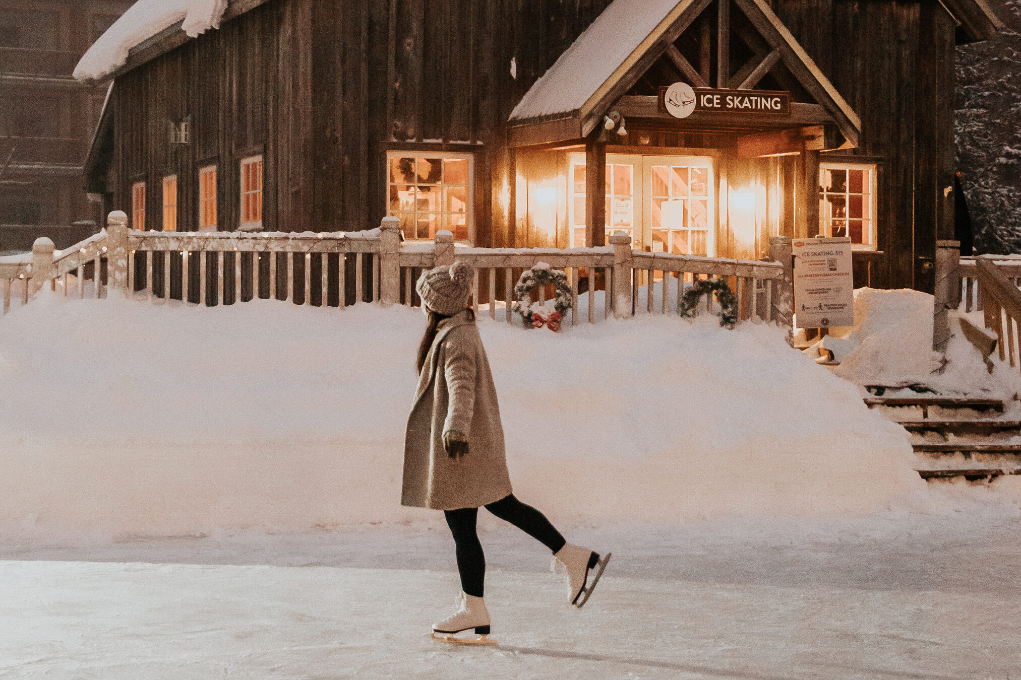
{"type": "Polygon", "coordinates": [[[405,239],[448,229],[456,241],[474,241],[473,163],[471,154],[387,152],[387,215],[400,220],[405,239]]]}

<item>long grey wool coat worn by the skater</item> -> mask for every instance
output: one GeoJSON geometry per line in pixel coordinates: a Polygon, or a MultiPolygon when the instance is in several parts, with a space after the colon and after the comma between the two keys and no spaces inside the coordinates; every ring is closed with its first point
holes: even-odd
{"type": "Polygon", "coordinates": [[[440,321],[419,376],[404,435],[402,506],[479,508],[509,495],[496,386],[474,319],[440,321]],[[469,453],[449,458],[443,434],[468,435],[469,453]]]}

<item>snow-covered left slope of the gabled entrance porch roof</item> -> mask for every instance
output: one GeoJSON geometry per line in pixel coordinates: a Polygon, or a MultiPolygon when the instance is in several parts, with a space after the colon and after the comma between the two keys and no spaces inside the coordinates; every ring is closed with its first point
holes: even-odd
{"type": "Polygon", "coordinates": [[[615,0],[535,82],[510,113],[528,120],[580,111],[642,43],[651,43],[692,0],[615,0]]]}

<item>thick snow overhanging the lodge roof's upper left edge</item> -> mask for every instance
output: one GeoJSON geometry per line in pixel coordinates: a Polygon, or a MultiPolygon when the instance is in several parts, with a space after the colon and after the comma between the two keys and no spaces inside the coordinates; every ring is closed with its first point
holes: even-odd
{"type": "Polygon", "coordinates": [[[125,65],[133,47],[179,21],[192,38],[218,29],[227,5],[228,0],[138,0],[89,48],[75,67],[75,77],[106,77],[125,65]]]}

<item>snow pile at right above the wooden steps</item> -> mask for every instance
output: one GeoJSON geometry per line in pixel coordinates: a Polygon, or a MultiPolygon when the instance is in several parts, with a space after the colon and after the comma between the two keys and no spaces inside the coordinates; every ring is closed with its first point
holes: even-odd
{"type": "MultiPolygon", "coordinates": [[[[859,385],[920,384],[946,395],[1012,400],[1021,373],[995,363],[990,374],[981,353],[965,338],[957,311],[945,356],[932,350],[932,296],[918,291],[855,291],[855,321],[842,336],[823,339],[840,365],[833,372],[859,385]]],[[[981,314],[972,319],[981,327],[981,314]]]]}

